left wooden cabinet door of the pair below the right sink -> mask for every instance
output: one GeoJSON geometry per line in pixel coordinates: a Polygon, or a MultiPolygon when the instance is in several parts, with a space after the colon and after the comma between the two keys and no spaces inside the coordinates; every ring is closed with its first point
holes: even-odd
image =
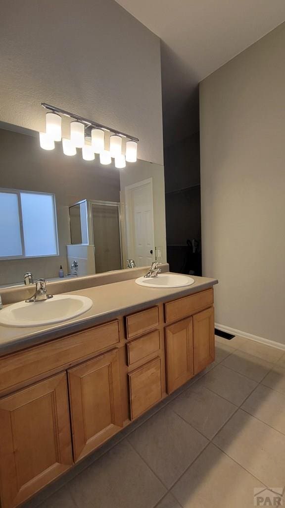
{"type": "Polygon", "coordinates": [[[165,329],[167,393],[193,377],[192,317],[165,329]]]}

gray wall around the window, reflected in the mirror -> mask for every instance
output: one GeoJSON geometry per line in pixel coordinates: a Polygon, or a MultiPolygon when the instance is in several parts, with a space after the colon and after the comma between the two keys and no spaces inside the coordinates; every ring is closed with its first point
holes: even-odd
{"type": "Polygon", "coordinates": [[[52,151],[42,150],[38,136],[5,130],[0,130],[1,187],[55,194],[59,257],[0,261],[0,285],[21,282],[26,271],[32,271],[34,278],[57,277],[62,265],[67,273],[68,207],[83,199],[120,201],[117,169],[84,161],[81,153],[67,157],[60,145],[52,151]]]}

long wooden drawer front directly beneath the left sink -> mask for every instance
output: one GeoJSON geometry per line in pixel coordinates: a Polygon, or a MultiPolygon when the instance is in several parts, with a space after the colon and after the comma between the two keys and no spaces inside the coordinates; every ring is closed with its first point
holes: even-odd
{"type": "Polygon", "coordinates": [[[0,392],[114,346],[119,340],[116,320],[0,358],[0,392]]]}

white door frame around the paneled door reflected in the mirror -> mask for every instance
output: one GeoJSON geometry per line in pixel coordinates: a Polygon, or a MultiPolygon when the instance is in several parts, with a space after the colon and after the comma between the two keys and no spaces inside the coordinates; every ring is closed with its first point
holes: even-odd
{"type": "MultiPolygon", "coordinates": [[[[145,185],[150,186],[151,193],[151,209],[153,216],[153,252],[155,251],[155,237],[154,237],[154,209],[153,209],[153,178],[146,178],[145,180],[141,180],[139,182],[131,183],[130,185],[126,185],[124,188],[125,191],[125,213],[126,213],[126,247],[127,247],[127,255],[128,258],[134,259],[135,256],[135,242],[133,236],[133,209],[132,209],[132,190],[144,187],[145,185]]],[[[154,255],[155,256],[155,255],[154,255]]]]}

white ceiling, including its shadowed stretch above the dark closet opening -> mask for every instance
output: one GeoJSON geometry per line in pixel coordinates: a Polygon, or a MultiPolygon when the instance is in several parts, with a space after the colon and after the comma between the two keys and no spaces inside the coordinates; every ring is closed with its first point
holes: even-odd
{"type": "Polygon", "coordinates": [[[117,0],[162,42],[167,144],[198,129],[198,83],[285,20],[284,0],[117,0]]]}

